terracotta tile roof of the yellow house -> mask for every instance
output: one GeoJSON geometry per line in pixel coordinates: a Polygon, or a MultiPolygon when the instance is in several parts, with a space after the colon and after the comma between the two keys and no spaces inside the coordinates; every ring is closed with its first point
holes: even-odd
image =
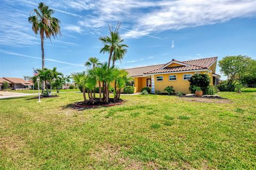
{"type": "Polygon", "coordinates": [[[210,67],[210,65],[217,60],[218,57],[211,57],[211,58],[202,58],[198,60],[190,60],[190,61],[184,61],[180,63],[188,64],[189,66],[174,66],[174,67],[165,67],[161,69],[166,64],[159,64],[159,65],[150,65],[150,66],[144,66],[144,67],[135,67],[132,69],[126,69],[126,71],[129,73],[131,77],[139,77],[143,76],[145,74],[154,74],[154,73],[168,73],[168,72],[177,72],[177,71],[192,71],[192,70],[201,70],[201,69],[207,69],[210,67]]]}

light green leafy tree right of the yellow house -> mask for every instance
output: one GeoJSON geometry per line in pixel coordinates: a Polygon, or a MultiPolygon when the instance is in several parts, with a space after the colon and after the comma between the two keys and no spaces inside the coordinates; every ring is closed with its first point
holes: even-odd
{"type": "Polygon", "coordinates": [[[236,83],[246,72],[251,58],[243,55],[226,56],[219,61],[220,72],[227,76],[227,86],[236,83]]]}

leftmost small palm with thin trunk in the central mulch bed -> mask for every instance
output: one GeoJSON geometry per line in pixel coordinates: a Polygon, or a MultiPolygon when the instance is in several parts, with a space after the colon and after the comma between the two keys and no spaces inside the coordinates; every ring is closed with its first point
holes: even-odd
{"type": "Polygon", "coordinates": [[[83,87],[83,97],[84,97],[84,103],[85,103],[87,101],[86,94],[85,94],[87,76],[85,74],[85,71],[81,73],[71,73],[71,77],[76,84],[83,87]]]}

